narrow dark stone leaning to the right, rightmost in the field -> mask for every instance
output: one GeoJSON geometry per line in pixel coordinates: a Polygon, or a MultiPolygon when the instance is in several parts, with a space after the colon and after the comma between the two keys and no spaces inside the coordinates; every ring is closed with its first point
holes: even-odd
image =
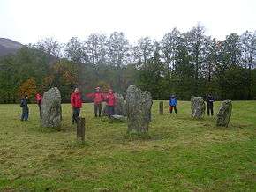
{"type": "Polygon", "coordinates": [[[228,127],[232,112],[232,101],[224,100],[217,114],[217,126],[228,127]]]}

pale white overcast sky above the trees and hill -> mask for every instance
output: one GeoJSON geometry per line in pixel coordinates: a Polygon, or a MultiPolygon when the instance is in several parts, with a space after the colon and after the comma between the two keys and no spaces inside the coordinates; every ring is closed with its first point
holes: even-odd
{"type": "Polygon", "coordinates": [[[0,37],[23,44],[114,31],[131,42],[161,40],[173,27],[187,31],[199,22],[218,39],[254,31],[256,0],[0,0],[0,37]]]}

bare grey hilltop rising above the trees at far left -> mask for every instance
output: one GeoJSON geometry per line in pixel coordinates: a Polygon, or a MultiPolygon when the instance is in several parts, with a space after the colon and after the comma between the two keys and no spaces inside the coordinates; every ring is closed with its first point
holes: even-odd
{"type": "Polygon", "coordinates": [[[0,56],[14,54],[19,48],[22,48],[22,44],[10,39],[0,38],[0,56]]]}

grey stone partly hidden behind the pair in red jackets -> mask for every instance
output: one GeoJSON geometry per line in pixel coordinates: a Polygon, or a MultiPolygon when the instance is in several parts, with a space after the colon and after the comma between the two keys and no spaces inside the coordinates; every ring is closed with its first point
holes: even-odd
{"type": "MultiPolygon", "coordinates": [[[[116,97],[116,106],[115,106],[115,114],[127,116],[126,113],[126,102],[124,100],[123,95],[119,93],[115,93],[116,97]]],[[[102,110],[102,116],[108,116],[108,106],[105,105],[102,110]]]]}

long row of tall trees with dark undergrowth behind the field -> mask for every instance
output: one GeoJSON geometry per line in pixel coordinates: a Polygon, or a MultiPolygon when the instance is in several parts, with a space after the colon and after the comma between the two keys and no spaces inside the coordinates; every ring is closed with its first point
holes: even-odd
{"type": "Polygon", "coordinates": [[[162,41],[149,37],[129,43],[124,33],[94,33],[61,44],[53,38],[21,48],[0,60],[0,102],[17,102],[57,86],[64,101],[73,87],[94,92],[109,87],[125,93],[138,85],[154,99],[178,100],[215,95],[217,100],[256,99],[256,32],[231,33],[223,41],[203,26],[181,33],[174,28],[162,41]]]}

